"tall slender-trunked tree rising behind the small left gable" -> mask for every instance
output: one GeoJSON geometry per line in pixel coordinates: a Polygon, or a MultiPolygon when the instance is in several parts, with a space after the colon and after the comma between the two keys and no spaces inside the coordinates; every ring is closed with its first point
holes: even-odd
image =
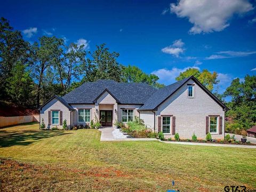
{"type": "Polygon", "coordinates": [[[63,51],[62,46],[63,39],[54,36],[43,36],[39,38],[39,44],[34,43],[33,45],[34,69],[37,82],[37,107],[39,107],[40,105],[40,93],[42,88],[42,82],[44,79],[44,73],[46,69],[53,68],[57,65],[57,63],[61,63],[60,55],[63,51]]]}

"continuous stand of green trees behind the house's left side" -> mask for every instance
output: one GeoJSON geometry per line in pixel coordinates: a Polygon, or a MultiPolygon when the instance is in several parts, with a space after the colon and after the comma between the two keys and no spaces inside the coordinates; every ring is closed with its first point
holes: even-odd
{"type": "Polygon", "coordinates": [[[105,44],[93,52],[84,45],[65,45],[62,38],[39,37],[26,42],[5,18],[0,20],[0,100],[25,107],[39,107],[54,94],[64,95],[84,82],[113,79],[145,82],[163,87],[158,77],[136,66],[117,62],[119,53],[105,44]]]}

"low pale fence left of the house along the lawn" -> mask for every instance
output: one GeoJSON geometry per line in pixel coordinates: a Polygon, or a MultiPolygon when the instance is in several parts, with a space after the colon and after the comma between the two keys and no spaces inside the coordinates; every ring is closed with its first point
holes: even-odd
{"type": "Polygon", "coordinates": [[[0,127],[29,122],[39,122],[39,115],[0,117],[0,127]]]}

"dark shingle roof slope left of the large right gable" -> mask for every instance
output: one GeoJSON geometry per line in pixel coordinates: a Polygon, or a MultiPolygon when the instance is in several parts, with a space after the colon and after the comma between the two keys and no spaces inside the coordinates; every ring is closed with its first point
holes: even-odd
{"type": "Polygon", "coordinates": [[[189,77],[159,89],[153,95],[151,95],[151,97],[145,102],[145,105],[140,107],[139,110],[154,110],[160,103],[179,89],[179,87],[182,86],[188,79],[189,77]]]}

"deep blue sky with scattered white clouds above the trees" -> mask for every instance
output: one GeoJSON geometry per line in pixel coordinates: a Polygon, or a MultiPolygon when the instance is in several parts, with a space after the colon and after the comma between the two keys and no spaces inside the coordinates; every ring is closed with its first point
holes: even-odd
{"type": "Polygon", "coordinates": [[[123,65],[136,65],[166,85],[188,67],[232,79],[256,75],[256,1],[5,1],[1,17],[34,42],[106,43],[123,65]]]}

